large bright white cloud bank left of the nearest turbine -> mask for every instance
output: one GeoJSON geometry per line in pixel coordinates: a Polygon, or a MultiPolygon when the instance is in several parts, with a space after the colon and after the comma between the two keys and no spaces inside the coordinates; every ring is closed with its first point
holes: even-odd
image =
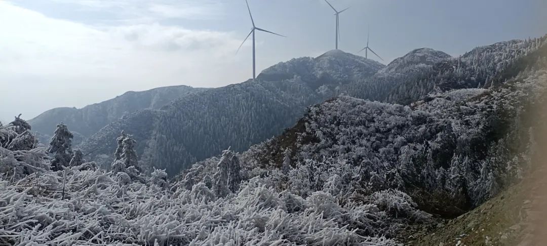
{"type": "Polygon", "coordinates": [[[11,92],[2,93],[0,105],[20,107],[2,107],[3,119],[18,113],[30,118],[53,107],[83,107],[127,90],[222,86],[240,82],[245,75],[235,71],[248,70],[236,62],[241,40],[233,33],[157,22],[90,26],[3,1],[0,30],[0,87],[11,92]],[[32,98],[13,103],[25,96],[32,98]]]}

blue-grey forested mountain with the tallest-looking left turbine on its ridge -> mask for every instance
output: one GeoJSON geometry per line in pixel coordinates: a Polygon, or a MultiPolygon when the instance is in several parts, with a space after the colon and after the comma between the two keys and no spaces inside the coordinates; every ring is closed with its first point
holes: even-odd
{"type": "Polygon", "coordinates": [[[112,122],[82,144],[90,158],[109,165],[122,130],[135,135],[143,165],[177,174],[196,161],[231,147],[246,150],[275,136],[306,107],[335,95],[335,88],[365,79],[384,65],[340,50],[296,58],[260,73],[257,81],[194,93],[159,110],[112,122]]]}

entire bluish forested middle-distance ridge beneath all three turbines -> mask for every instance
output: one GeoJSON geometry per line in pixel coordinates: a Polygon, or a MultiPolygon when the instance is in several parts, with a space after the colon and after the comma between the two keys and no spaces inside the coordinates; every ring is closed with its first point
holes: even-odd
{"type": "Polygon", "coordinates": [[[103,160],[109,159],[114,145],[104,143],[125,130],[138,139],[143,165],[154,163],[174,175],[228,147],[243,151],[280,134],[304,115],[306,107],[340,93],[410,104],[433,91],[499,85],[505,68],[541,42],[500,42],[457,58],[422,48],[387,67],[340,50],[316,58],[296,58],[265,69],[257,81],[197,93],[161,110],[113,122],[87,139],[82,149],[92,152],[90,159],[106,165],[103,160]]]}

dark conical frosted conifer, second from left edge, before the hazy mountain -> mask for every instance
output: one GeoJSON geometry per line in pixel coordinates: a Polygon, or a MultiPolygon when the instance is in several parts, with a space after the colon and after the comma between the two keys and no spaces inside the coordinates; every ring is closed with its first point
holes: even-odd
{"type": "Polygon", "coordinates": [[[60,170],[62,167],[69,165],[72,159],[72,138],[74,136],[65,124],[57,125],[55,133],[49,141],[48,153],[53,154],[51,168],[54,171],[60,170]]]}

